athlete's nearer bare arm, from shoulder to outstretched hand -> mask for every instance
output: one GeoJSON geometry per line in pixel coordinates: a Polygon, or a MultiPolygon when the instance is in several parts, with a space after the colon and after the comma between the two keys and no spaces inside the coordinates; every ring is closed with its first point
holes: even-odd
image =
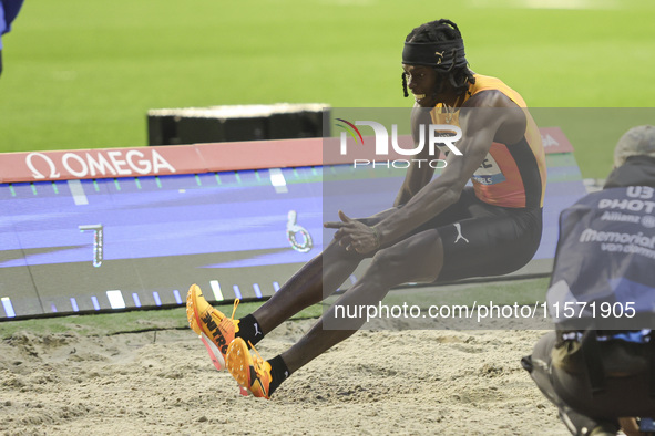
{"type": "Polygon", "coordinates": [[[525,115],[509,97],[498,91],[475,94],[460,111],[462,138],[457,147],[462,156],[449,154],[442,174],[428,183],[400,209],[370,227],[340,212],[342,222],[327,222],[338,228],[335,238],[360,253],[391,245],[406,233],[456,203],[473,173],[480,167],[493,141],[515,144],[525,132],[525,115]]]}

